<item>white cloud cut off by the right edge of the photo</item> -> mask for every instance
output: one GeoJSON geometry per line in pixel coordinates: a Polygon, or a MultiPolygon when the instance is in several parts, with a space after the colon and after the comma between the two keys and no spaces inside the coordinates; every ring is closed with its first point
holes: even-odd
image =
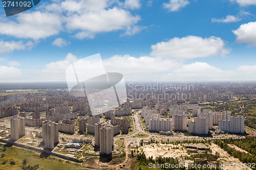
{"type": "Polygon", "coordinates": [[[237,36],[236,42],[256,45],[256,22],[245,23],[232,32],[237,36]]]}

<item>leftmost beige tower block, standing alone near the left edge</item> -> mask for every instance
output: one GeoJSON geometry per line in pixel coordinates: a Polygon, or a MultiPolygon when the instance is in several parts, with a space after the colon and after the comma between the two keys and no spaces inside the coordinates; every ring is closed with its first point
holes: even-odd
{"type": "Polygon", "coordinates": [[[11,123],[11,139],[17,140],[25,135],[25,119],[24,117],[13,116],[11,123]]]}

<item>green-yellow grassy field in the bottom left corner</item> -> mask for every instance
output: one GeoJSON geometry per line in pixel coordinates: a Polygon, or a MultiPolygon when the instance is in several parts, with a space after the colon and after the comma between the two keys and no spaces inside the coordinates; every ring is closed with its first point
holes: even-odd
{"type": "Polygon", "coordinates": [[[0,169],[22,169],[23,166],[39,165],[38,169],[79,169],[78,163],[45,156],[39,152],[11,147],[0,143],[0,169]],[[23,164],[26,160],[26,164],[23,164]]]}

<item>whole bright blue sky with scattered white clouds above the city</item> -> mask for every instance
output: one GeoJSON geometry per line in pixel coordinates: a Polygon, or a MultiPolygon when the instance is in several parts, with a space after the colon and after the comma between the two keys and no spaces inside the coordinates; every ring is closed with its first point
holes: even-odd
{"type": "MultiPolygon", "coordinates": [[[[2,5],[1,5],[2,6],[2,5]]],[[[66,81],[101,54],[128,81],[254,81],[256,0],[52,0],[0,10],[0,82],[66,81]]]]}

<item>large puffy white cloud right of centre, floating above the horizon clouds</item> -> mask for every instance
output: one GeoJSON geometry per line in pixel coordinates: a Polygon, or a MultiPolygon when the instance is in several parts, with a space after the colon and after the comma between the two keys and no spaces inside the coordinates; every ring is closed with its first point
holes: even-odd
{"type": "Polygon", "coordinates": [[[173,59],[193,59],[228,54],[230,50],[224,46],[224,41],[214,36],[209,38],[197,36],[176,37],[167,42],[158,42],[152,45],[151,55],[173,59]]]}

